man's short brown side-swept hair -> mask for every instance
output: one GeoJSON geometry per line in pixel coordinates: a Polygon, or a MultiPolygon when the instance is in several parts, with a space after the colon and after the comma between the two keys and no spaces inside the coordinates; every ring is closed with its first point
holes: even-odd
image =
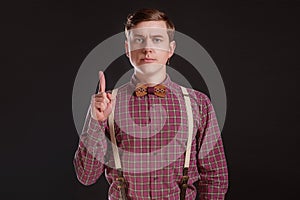
{"type": "Polygon", "coordinates": [[[144,21],[164,21],[166,22],[168,30],[168,36],[170,41],[174,40],[175,26],[169,17],[162,11],[152,8],[142,8],[127,16],[125,23],[125,32],[134,28],[138,23],[144,21]]]}

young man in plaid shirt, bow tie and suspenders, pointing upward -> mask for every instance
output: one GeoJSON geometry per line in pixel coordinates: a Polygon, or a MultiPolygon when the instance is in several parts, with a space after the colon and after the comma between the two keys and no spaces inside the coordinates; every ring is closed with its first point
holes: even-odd
{"type": "Polygon", "coordinates": [[[84,185],[105,171],[111,200],[225,197],[227,164],[213,106],[166,73],[174,32],[163,12],[136,11],[125,25],[132,79],[111,94],[99,72],[74,166],[84,185]]]}

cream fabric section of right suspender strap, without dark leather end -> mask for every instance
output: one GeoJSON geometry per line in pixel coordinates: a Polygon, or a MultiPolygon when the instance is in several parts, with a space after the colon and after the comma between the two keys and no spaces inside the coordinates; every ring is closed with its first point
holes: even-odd
{"type": "Polygon", "coordinates": [[[185,162],[184,167],[188,168],[190,166],[190,155],[191,155],[191,146],[192,146],[192,136],[193,136],[193,112],[191,106],[191,100],[189,97],[189,93],[187,92],[186,88],[181,86],[181,90],[183,93],[184,101],[185,101],[185,108],[188,117],[188,141],[186,145],[186,152],[185,152],[185,162]]]}

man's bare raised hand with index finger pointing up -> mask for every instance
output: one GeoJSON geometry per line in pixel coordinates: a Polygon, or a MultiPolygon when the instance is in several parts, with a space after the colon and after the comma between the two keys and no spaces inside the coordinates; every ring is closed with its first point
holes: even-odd
{"type": "Polygon", "coordinates": [[[105,77],[102,71],[99,72],[99,90],[92,96],[91,115],[99,121],[105,121],[112,111],[111,94],[105,92],[105,77]]]}

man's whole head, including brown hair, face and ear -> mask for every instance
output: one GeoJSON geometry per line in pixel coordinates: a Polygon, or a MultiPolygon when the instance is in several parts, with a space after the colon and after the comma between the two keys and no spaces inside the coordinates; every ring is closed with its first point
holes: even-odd
{"type": "Polygon", "coordinates": [[[135,70],[146,75],[164,72],[175,50],[174,32],[172,21],[159,10],[141,9],[128,15],[125,48],[135,70]]]}

